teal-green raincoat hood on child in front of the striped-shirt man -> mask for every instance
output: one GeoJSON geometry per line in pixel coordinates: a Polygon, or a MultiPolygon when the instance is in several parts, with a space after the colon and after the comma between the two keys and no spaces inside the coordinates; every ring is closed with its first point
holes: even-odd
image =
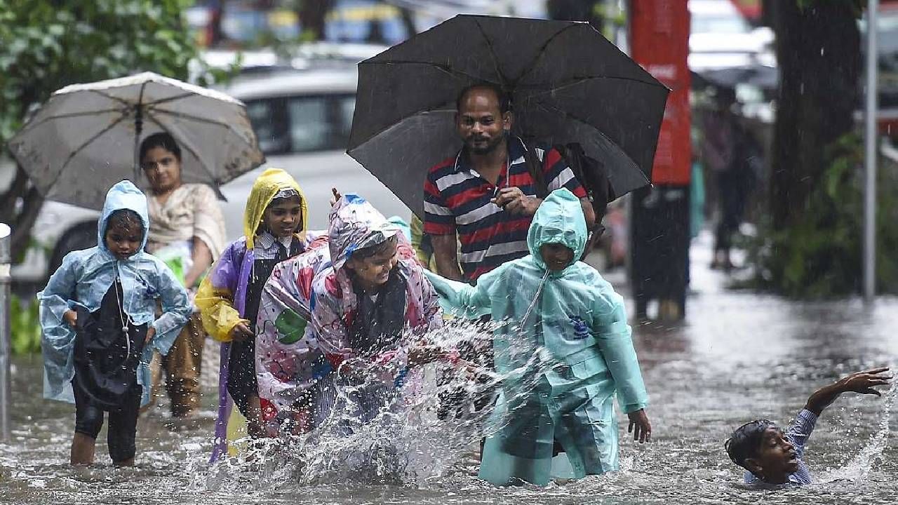
{"type": "Polygon", "coordinates": [[[583,256],[588,235],[580,199],[569,190],[561,188],[552,191],[536,209],[527,232],[527,247],[533,255],[533,261],[541,269],[546,268],[540,254],[542,244],[564,244],[573,249],[574,259],[571,264],[574,264],[583,256]]]}

